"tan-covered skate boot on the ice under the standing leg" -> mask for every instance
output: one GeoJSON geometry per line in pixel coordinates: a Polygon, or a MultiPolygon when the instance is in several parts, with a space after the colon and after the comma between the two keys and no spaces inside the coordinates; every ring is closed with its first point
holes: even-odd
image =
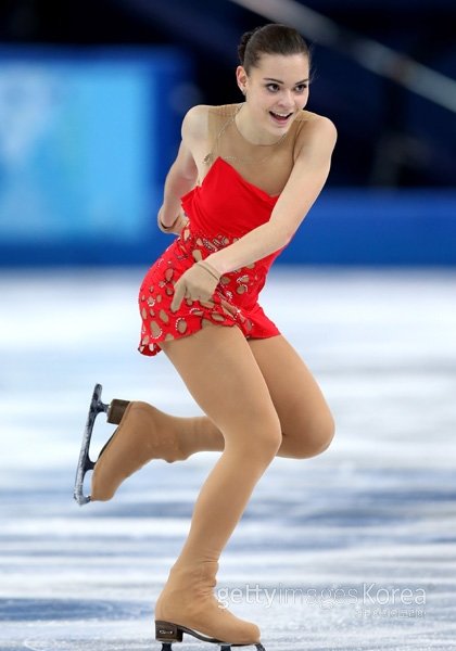
{"type": "MultiPolygon", "coordinates": [[[[259,628],[236,617],[215,598],[217,561],[204,561],[179,567],[174,565],[155,604],[155,639],[178,642],[186,633],[203,641],[230,644],[255,644],[258,651],[259,628]]],[[[169,647],[167,647],[170,649],[169,647]]]]}

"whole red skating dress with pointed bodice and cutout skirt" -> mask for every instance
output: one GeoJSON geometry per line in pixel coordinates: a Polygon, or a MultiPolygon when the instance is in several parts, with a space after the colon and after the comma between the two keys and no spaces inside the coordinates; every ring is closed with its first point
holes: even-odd
{"type": "Polygon", "coordinates": [[[259,306],[258,294],[273,261],[282,250],[221,276],[210,302],[185,298],[176,312],[170,310],[174,283],[180,276],[195,261],[267,222],[278,199],[279,195],[271,196],[246,181],[223,157],[215,157],[202,184],[181,197],[190,219],[188,226],[142,281],[139,292],[140,353],[156,355],[161,350],[160,342],[193,334],[207,322],[238,326],[248,339],[280,334],[259,306]]]}

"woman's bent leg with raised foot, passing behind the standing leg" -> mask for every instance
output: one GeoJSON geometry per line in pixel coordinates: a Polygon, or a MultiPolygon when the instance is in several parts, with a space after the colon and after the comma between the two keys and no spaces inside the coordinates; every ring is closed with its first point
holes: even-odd
{"type": "MultiPolygon", "coordinates": [[[[277,456],[305,459],[324,451],[333,436],[333,419],[301,357],[281,335],[248,343],[279,416],[283,438],[277,456]]],[[[225,448],[223,433],[207,416],[175,417],[144,403],[127,409],[97,462],[93,501],[111,499],[122,482],[151,459],[177,461],[225,448]]]]}

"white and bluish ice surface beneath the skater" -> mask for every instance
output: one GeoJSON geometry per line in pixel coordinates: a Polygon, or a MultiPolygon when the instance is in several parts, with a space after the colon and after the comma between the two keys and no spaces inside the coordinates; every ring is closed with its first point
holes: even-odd
{"type": "MultiPolygon", "coordinates": [[[[109,503],[72,497],[96,382],[104,401],[199,413],[165,356],[136,350],[144,271],[0,276],[2,651],[161,649],[154,601],[217,455],[154,461],[109,503]]],[[[456,649],[456,271],[280,268],[263,306],[337,436],[269,467],[218,597],[266,651],[456,649]]],[[[96,447],[111,431],[100,417],[96,447]]]]}

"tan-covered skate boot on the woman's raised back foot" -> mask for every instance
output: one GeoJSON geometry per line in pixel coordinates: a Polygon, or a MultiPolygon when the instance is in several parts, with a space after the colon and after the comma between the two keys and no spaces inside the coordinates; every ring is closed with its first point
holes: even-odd
{"type": "Polygon", "coordinates": [[[119,485],[152,459],[169,463],[187,458],[179,448],[170,418],[147,403],[113,400],[107,421],[118,427],[93,468],[91,501],[111,499],[119,485]]]}

